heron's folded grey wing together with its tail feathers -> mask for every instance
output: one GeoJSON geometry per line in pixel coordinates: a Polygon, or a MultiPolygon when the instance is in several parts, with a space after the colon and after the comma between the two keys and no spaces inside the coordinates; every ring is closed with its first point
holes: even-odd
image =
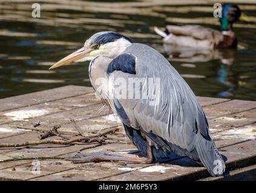
{"type": "MultiPolygon", "coordinates": [[[[212,141],[205,113],[185,80],[165,57],[149,46],[134,43],[124,53],[136,56],[136,74],[114,71],[111,76],[153,78],[155,81],[160,78],[160,86],[153,90],[157,105],[149,104],[149,96],[140,100],[117,100],[131,127],[152,132],[169,142],[172,148],[177,147],[174,151],[182,156],[200,160],[212,176],[214,160],[220,160],[222,166],[218,171],[222,174],[225,163],[212,141]]],[[[140,86],[140,90],[149,95],[146,85],[140,86]]]]}

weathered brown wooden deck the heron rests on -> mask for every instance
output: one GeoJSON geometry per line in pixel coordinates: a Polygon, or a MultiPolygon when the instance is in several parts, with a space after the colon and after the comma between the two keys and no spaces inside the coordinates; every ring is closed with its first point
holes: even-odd
{"type": "MultiPolygon", "coordinates": [[[[212,178],[202,166],[185,157],[173,155],[169,160],[150,165],[106,162],[74,165],[67,160],[19,160],[0,162],[0,180],[253,180],[256,176],[256,102],[198,97],[209,119],[211,133],[220,152],[227,157],[229,174],[212,178]],[[40,166],[35,171],[35,165],[40,166]],[[246,174],[248,177],[246,178],[246,174]]],[[[59,132],[75,136],[74,119],[85,133],[119,127],[120,123],[107,107],[94,96],[91,87],[65,86],[0,100],[0,145],[39,141],[39,131],[18,128],[32,127],[48,130],[61,125],[59,132]],[[101,109],[101,110],[100,110],[101,109]],[[100,111],[99,111],[100,110],[100,111]],[[106,121],[107,119],[107,121],[106,121]],[[67,131],[70,134],[67,134],[67,131]],[[65,133],[66,132],[66,133],[65,133]]],[[[110,144],[76,143],[76,145],[27,145],[0,148],[0,160],[22,157],[67,157],[83,148],[83,153],[114,150],[128,153],[136,147],[125,138],[122,129],[108,138],[120,139],[110,144]],[[98,145],[96,147],[96,145],[98,145]]],[[[52,136],[47,139],[63,139],[52,136]]],[[[47,140],[44,139],[44,140],[47,140]]]]}

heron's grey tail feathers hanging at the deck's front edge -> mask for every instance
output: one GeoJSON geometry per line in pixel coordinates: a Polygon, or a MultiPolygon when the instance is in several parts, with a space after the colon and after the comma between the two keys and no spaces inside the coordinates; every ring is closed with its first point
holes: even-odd
{"type": "Polygon", "coordinates": [[[209,171],[211,176],[221,176],[225,172],[225,162],[222,159],[220,153],[218,153],[217,147],[212,141],[211,136],[205,138],[202,134],[197,135],[197,142],[195,149],[199,155],[200,161],[209,171]]]}

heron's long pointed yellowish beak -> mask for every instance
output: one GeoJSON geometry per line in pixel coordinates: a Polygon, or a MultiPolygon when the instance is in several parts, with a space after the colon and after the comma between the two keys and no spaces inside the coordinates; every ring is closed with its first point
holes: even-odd
{"type": "Polygon", "coordinates": [[[77,51],[73,52],[72,54],[66,56],[64,59],[59,60],[59,62],[55,63],[53,66],[49,68],[57,68],[59,66],[68,65],[71,62],[76,62],[77,60],[83,59],[84,57],[87,57],[88,54],[91,52],[91,48],[80,48],[77,51]]]}

